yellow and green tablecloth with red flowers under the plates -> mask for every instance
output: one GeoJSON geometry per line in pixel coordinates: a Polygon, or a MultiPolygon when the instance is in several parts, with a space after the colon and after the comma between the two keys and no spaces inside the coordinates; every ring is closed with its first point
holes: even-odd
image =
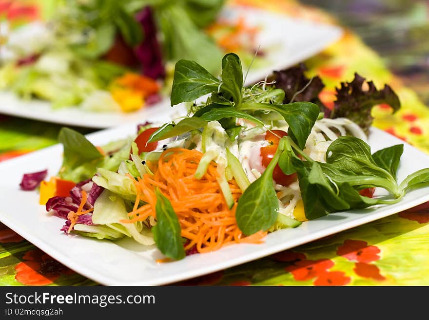
{"type": "MultiPolygon", "coordinates": [[[[0,4],[2,2],[5,1],[1,0],[0,4]]],[[[327,11],[292,0],[232,2],[309,20],[339,23],[327,11]]],[[[374,0],[368,3],[382,5],[383,2],[388,1],[374,0]]],[[[37,18],[45,14],[45,9],[23,3],[23,7],[14,7],[16,15],[21,12],[27,17],[30,15],[37,18]]],[[[336,1],[324,3],[334,5],[336,1]]],[[[420,9],[417,8],[423,10],[418,12],[418,21],[423,21],[427,27],[428,5],[425,2],[419,2],[418,5],[423,5],[420,9]]],[[[359,8],[358,5],[350,6],[350,10],[359,8]]],[[[351,12],[348,12],[349,16],[351,12]]],[[[417,19],[415,15],[407,17],[408,22],[417,19]]],[[[409,59],[406,62],[409,67],[409,59]]],[[[340,41],[305,61],[309,75],[320,75],[326,84],[320,95],[325,104],[333,103],[335,87],[341,81],[350,81],[355,72],[373,80],[377,88],[389,83],[400,97],[401,110],[392,115],[389,106],[375,107],[374,126],[429,153],[429,109],[422,102],[425,96],[419,96],[404,85],[403,79],[409,81],[412,78],[410,72],[401,78],[393,75],[385,63],[386,60],[365,45],[350,29],[345,29],[340,41]]],[[[429,82],[420,82],[419,88],[427,88],[428,84],[429,82]]],[[[0,161],[56,143],[59,129],[59,125],[0,115],[0,161]]],[[[78,130],[83,133],[91,131],[78,130]]],[[[429,204],[425,204],[270,257],[178,284],[429,285],[428,245],[429,204]]],[[[0,224],[0,285],[96,284],[63,266],[13,230],[0,224]]]]}

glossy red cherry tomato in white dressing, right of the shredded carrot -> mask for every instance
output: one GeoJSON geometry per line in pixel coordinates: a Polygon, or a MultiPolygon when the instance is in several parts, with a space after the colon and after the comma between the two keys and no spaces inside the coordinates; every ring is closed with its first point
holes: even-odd
{"type": "MultiPolygon", "coordinates": [[[[281,137],[288,135],[287,132],[282,130],[272,130],[267,131],[265,134],[265,140],[267,140],[270,145],[267,147],[261,148],[261,156],[262,156],[262,165],[267,168],[270,164],[271,160],[273,160],[273,156],[275,151],[278,148],[278,142],[281,137]]],[[[296,180],[296,173],[293,174],[284,174],[282,169],[278,166],[278,164],[274,167],[273,171],[273,180],[275,183],[282,186],[289,186],[293,181],[296,180]]]]}

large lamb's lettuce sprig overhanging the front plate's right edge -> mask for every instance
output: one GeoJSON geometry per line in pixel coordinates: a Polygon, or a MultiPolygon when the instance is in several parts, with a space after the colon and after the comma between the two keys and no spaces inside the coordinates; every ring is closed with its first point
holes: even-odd
{"type": "Polygon", "coordinates": [[[279,166],[285,173],[297,173],[305,216],[309,220],[336,211],[394,204],[409,189],[429,185],[429,168],[410,174],[400,185],[396,182],[403,145],[371,154],[370,146],[363,140],[340,136],[328,148],[327,162],[321,163],[308,157],[289,137],[286,143],[292,150],[285,147],[279,166]],[[389,195],[369,198],[359,193],[376,187],[386,189],[389,195]]]}

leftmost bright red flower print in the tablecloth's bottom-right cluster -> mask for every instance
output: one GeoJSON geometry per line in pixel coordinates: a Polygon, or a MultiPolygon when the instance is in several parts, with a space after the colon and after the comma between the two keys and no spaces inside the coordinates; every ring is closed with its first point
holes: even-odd
{"type": "Polygon", "coordinates": [[[286,271],[292,272],[293,279],[298,281],[311,280],[321,273],[325,273],[333,267],[333,262],[328,259],[320,260],[301,260],[285,268],[286,271]]]}

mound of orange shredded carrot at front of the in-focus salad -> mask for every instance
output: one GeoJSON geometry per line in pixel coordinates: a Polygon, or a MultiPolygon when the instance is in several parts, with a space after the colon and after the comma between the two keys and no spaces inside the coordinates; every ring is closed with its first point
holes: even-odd
{"type": "Polygon", "coordinates": [[[241,196],[241,189],[234,179],[228,181],[234,206],[229,208],[217,182],[216,163],[211,162],[201,179],[194,174],[202,153],[196,150],[173,148],[164,151],[154,168],[154,175],[133,179],[136,203],[128,213],[130,220],[123,223],[145,221],[149,216],[156,218],[155,188],[166,196],[174,208],[180,226],[181,236],[189,239],[185,250],[196,246],[198,252],[210,252],[223,245],[233,243],[260,243],[267,232],[245,236],[237,226],[235,209],[241,196]],[[146,204],[138,207],[139,201],[146,204]]]}

